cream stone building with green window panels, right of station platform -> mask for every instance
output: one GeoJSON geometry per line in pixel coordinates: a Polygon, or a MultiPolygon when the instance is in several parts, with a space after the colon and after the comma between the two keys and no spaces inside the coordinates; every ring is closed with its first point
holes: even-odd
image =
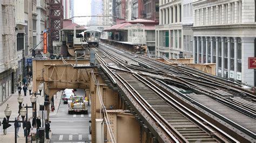
{"type": "Polygon", "coordinates": [[[156,26],[156,56],[178,58],[183,51],[181,0],[159,2],[159,25],[156,26]]]}

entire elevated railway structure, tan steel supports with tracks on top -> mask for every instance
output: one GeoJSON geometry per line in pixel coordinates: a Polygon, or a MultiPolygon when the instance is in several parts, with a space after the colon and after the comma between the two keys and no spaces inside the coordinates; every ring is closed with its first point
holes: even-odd
{"type": "Polygon", "coordinates": [[[92,142],[255,142],[256,97],[244,84],[111,45],[87,52],[95,62],[90,54],[34,60],[33,83],[44,83],[50,98],[85,89],[92,142]]]}

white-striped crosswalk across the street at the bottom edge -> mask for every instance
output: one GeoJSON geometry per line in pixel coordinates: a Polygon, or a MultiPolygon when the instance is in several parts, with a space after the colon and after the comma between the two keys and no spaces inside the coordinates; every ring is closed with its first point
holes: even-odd
{"type": "Polygon", "coordinates": [[[90,142],[91,134],[52,134],[51,142],[90,142]]]}

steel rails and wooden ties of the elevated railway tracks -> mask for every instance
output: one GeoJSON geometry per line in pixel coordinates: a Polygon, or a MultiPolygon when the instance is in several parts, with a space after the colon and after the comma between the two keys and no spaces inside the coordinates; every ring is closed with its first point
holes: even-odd
{"type": "Polygon", "coordinates": [[[92,50],[96,51],[100,66],[111,83],[122,91],[123,98],[132,107],[131,112],[158,140],[255,141],[255,106],[252,106],[255,95],[242,89],[241,84],[134,56],[109,45],[92,50]],[[237,113],[235,116],[247,125],[207,108],[193,99],[193,95],[213,99],[237,113]]]}

